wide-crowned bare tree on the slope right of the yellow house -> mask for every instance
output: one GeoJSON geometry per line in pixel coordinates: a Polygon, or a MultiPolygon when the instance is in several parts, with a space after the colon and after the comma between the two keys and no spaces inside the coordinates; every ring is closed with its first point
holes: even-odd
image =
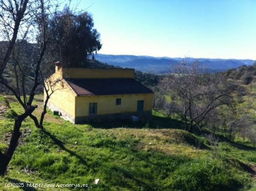
{"type": "Polygon", "coordinates": [[[206,73],[199,68],[198,61],[184,59],[174,67],[172,73],[162,81],[168,94],[177,98],[177,110],[181,113],[186,130],[207,124],[209,113],[221,105],[232,107],[237,86],[219,73],[206,73]]]}

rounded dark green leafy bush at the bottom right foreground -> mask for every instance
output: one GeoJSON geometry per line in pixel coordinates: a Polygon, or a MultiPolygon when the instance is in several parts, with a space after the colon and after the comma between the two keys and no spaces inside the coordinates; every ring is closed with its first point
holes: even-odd
{"type": "Polygon", "coordinates": [[[168,189],[174,191],[239,190],[248,185],[245,173],[234,171],[222,160],[197,159],[185,163],[169,179],[168,189]]]}

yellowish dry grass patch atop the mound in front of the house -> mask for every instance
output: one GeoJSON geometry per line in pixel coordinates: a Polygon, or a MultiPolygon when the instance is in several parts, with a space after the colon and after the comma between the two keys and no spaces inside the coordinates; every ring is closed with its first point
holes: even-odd
{"type": "MultiPolygon", "coordinates": [[[[101,130],[102,131],[102,130],[101,130]]],[[[177,129],[132,129],[118,128],[103,130],[117,139],[137,138],[137,148],[144,151],[162,151],[166,154],[186,154],[203,157],[209,151],[196,145],[198,140],[194,135],[177,129]]]]}

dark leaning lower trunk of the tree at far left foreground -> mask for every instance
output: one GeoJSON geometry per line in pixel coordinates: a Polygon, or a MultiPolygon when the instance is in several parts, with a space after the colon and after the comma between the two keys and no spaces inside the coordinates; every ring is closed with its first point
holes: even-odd
{"type": "Polygon", "coordinates": [[[13,157],[13,153],[16,150],[16,147],[18,145],[18,141],[21,135],[20,127],[21,123],[24,119],[27,118],[33,111],[35,107],[31,107],[29,110],[27,110],[25,113],[19,115],[14,122],[13,126],[13,132],[11,136],[11,140],[9,143],[9,146],[5,153],[0,152],[0,176],[4,176],[5,172],[7,170],[7,165],[9,164],[10,160],[13,157]]]}

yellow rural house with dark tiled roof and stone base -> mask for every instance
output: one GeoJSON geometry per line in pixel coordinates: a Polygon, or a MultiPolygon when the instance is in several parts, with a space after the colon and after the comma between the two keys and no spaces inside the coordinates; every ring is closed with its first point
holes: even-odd
{"type": "MultiPolygon", "coordinates": [[[[134,79],[134,69],[55,67],[58,83],[48,108],[70,122],[151,117],[152,90],[134,79]]],[[[46,98],[46,93],[45,93],[46,98]]]]}

